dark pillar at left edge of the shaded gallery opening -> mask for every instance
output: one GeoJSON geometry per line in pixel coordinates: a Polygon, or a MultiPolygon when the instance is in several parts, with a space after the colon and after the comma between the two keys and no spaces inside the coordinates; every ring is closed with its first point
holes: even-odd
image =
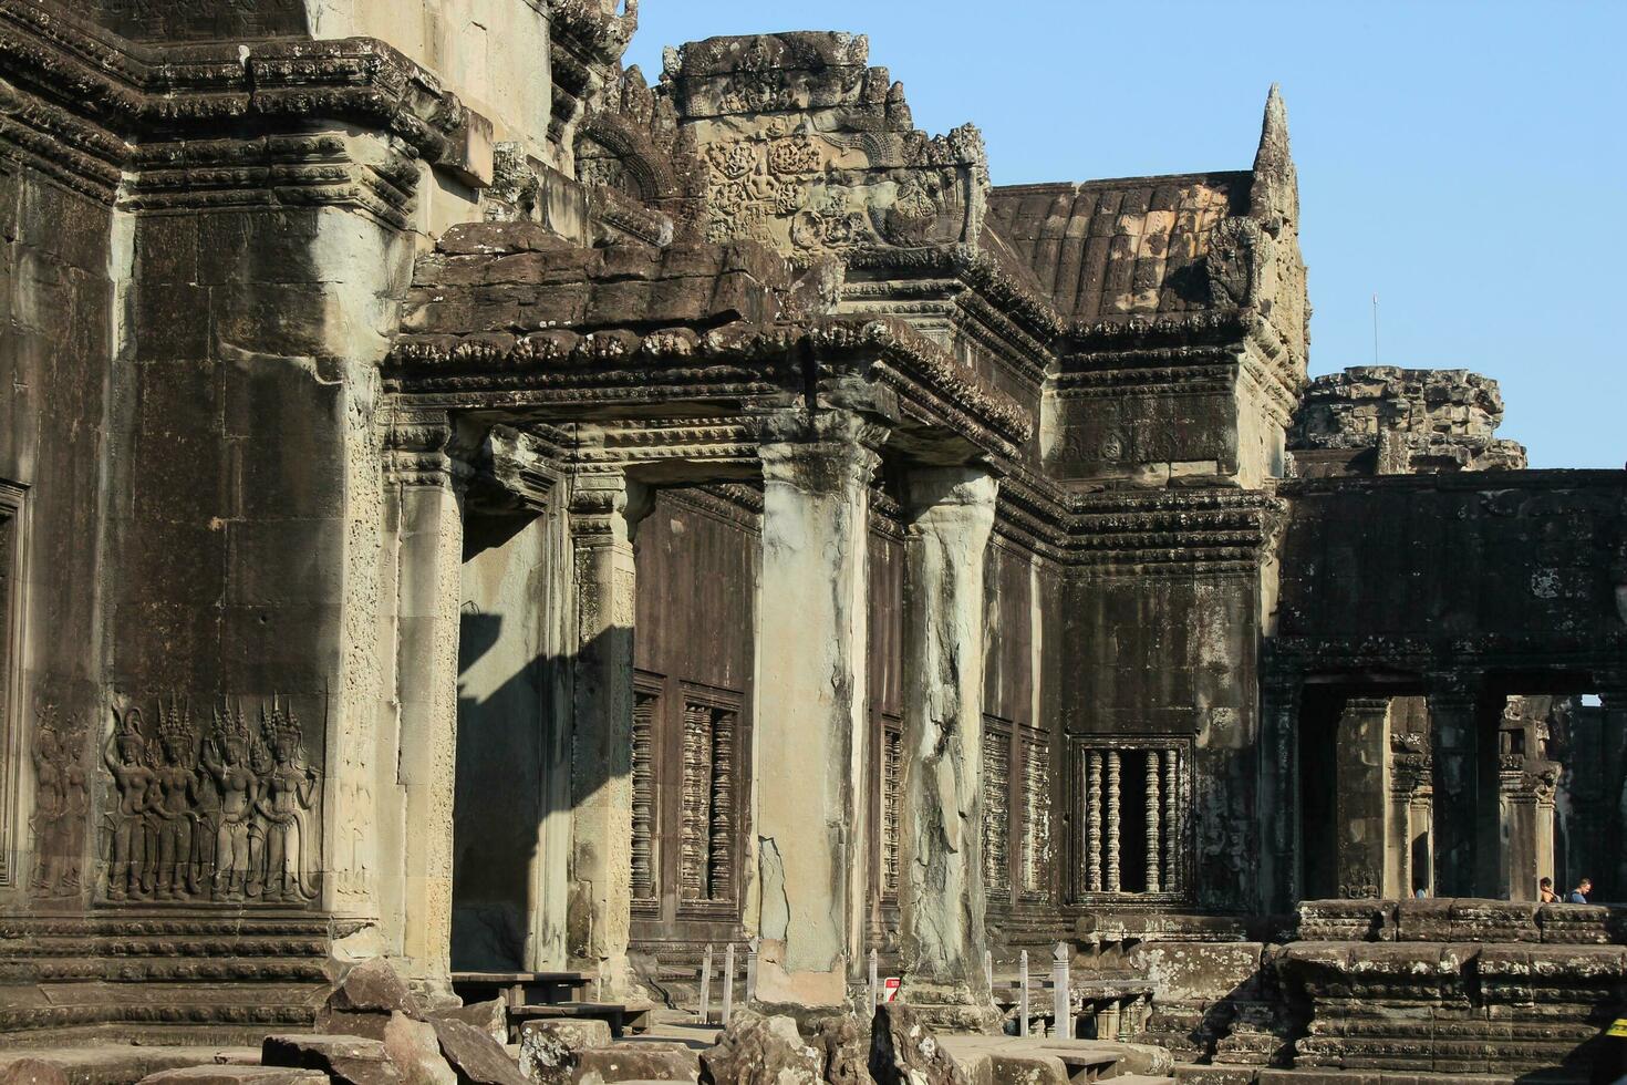
{"type": "Polygon", "coordinates": [[[1292,670],[1263,682],[1259,704],[1259,906],[1289,913],[1300,898],[1298,737],[1305,682],[1292,670]]]}

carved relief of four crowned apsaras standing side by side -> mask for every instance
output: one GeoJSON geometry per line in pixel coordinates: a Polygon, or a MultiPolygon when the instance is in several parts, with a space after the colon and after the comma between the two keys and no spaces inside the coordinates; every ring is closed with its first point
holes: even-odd
{"type": "Polygon", "coordinates": [[[309,904],[321,771],[293,706],[116,704],[103,750],[106,900],[309,904]]]}

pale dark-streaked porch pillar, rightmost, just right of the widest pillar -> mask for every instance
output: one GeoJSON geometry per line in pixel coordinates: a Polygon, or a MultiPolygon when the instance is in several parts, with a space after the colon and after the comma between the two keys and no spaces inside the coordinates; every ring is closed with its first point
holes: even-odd
{"type": "Polygon", "coordinates": [[[983,973],[983,560],[999,483],[909,473],[898,916],[906,1002],[939,1023],[992,1020],[983,973]]]}

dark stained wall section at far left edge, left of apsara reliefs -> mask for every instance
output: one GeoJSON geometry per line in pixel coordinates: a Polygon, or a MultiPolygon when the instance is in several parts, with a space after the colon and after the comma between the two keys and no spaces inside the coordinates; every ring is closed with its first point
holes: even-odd
{"type": "Polygon", "coordinates": [[[0,901],[78,904],[103,739],[111,369],[129,236],[41,169],[0,174],[0,901]]]}

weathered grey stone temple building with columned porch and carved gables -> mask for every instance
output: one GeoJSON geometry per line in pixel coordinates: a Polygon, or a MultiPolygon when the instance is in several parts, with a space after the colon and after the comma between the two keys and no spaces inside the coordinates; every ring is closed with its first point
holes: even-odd
{"type": "Polygon", "coordinates": [[[862,36],[635,24],[0,0],[0,1043],[726,943],[976,1030],[1061,942],[1189,1080],[1585,1078],[1627,472],[1308,379],[1276,91],[996,187],[862,36]]]}

